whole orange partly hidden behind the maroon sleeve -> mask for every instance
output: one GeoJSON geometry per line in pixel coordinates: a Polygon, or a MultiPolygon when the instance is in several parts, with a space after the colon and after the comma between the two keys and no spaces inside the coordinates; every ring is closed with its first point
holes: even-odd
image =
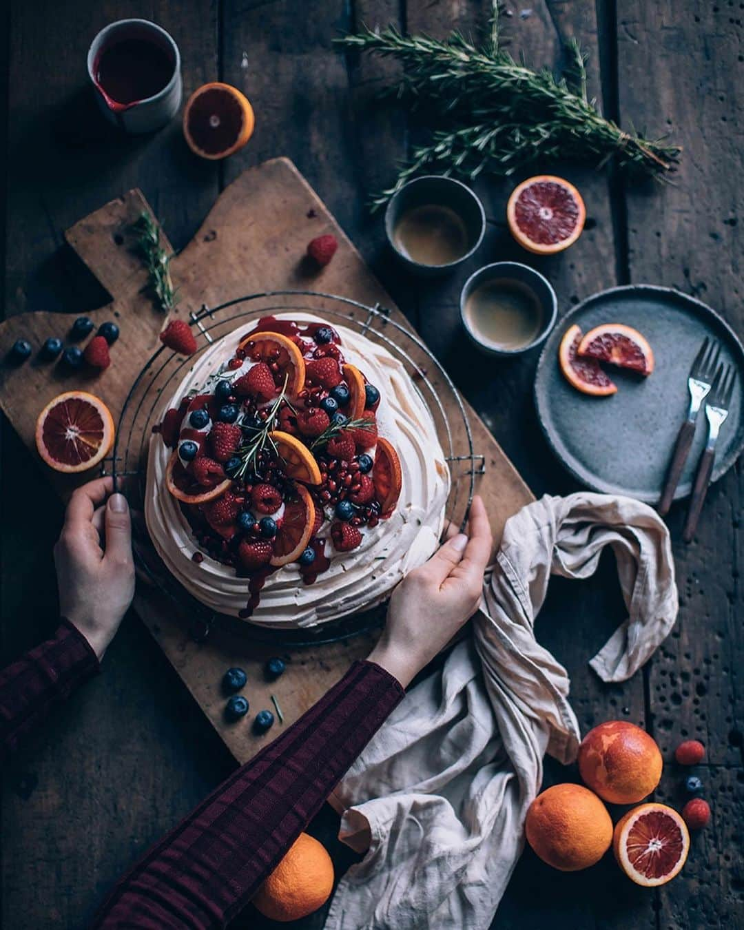
{"type": "Polygon", "coordinates": [[[286,923],[318,910],[332,890],[333,862],[326,847],[307,833],[300,833],[260,886],[253,903],[264,917],[286,923]]]}

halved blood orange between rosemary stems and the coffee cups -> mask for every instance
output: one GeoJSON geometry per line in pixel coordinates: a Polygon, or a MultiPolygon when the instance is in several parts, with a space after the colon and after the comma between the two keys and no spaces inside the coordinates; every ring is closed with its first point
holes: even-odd
{"type": "Polygon", "coordinates": [[[573,184],[555,175],[528,178],[514,188],[506,207],[509,229],[528,252],[551,255],[581,235],[587,210],[573,184]]]}

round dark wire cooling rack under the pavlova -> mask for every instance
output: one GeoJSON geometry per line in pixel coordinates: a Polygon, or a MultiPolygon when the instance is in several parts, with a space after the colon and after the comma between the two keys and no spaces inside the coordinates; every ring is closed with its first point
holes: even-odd
{"type": "MultiPolygon", "coordinates": [[[[445,450],[452,485],[445,515],[463,527],[475,486],[475,475],[484,471],[484,459],[472,447],[468,414],[455,385],[442,365],[419,337],[391,318],[390,311],[369,307],[358,300],[318,291],[281,290],[249,294],[217,307],[204,305],[191,313],[197,351],[183,358],[162,346],[140,371],[119,419],[113,446],[114,486],[126,494],[134,513],[133,548],[140,573],[164,592],[179,617],[189,624],[194,638],[205,639],[217,625],[257,642],[277,647],[336,643],[382,625],[385,605],[349,618],[298,630],[272,630],[246,620],[216,614],[197,601],[171,575],[154,549],[144,521],[147,454],[153,429],[159,424],[173,393],[189,369],[209,346],[236,328],[277,313],[304,312],[337,323],[383,346],[398,359],[429,408],[437,436],[445,450]],[[121,481],[121,479],[125,479],[121,481]]],[[[194,551],[197,546],[194,541],[194,551]]],[[[194,565],[195,567],[195,565],[194,565]]]]}

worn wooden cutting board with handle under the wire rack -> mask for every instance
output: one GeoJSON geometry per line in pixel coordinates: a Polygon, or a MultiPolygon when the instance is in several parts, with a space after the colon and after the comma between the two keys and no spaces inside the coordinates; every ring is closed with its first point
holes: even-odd
{"type": "MultiPolygon", "coordinates": [[[[44,478],[62,498],[69,497],[77,484],[92,475],[77,479],[60,475],[39,461],[33,439],[39,410],[62,391],[82,389],[99,394],[118,421],[126,394],[142,365],[159,347],[158,334],[166,325],[166,318],[148,293],[147,273],[131,232],[143,210],[152,213],[139,190],[129,191],[66,233],[70,246],[112,296],[111,303],[88,314],[96,326],[115,320],[120,327],[120,338],[112,348],[112,366],[101,375],[88,375],[65,372],[61,365],[35,357],[20,367],[7,361],[0,365],[0,405],[32,451],[44,478]]],[[[170,248],[165,236],[164,243],[170,248]]],[[[215,307],[244,294],[296,288],[339,294],[370,306],[379,303],[390,309],[392,319],[410,329],[326,206],[286,158],[249,168],[233,181],[220,194],[191,243],[173,259],[171,271],[179,291],[179,306],[173,315],[187,319],[189,312],[203,304],[215,307]],[[317,272],[308,268],[302,256],[307,243],[322,233],[337,236],[339,251],[322,272],[317,272]]],[[[31,312],[7,319],[0,324],[0,357],[6,357],[16,339],[29,339],[35,352],[48,336],[66,336],[74,315],[31,312]]],[[[441,396],[444,399],[445,392],[441,396]]],[[[466,407],[473,448],[485,457],[485,474],[478,489],[498,539],[506,519],[533,498],[483,422],[466,407]]],[[[448,412],[457,422],[457,411],[448,412]]],[[[172,602],[141,579],[135,608],[240,762],[280,732],[278,721],[264,737],[255,736],[250,726],[256,711],[274,710],[272,695],[282,708],[284,725],[291,724],[354,659],[365,657],[375,639],[374,634],[365,633],[339,643],[295,648],[288,655],[283,649],[280,654],[289,659],[287,671],[278,681],[268,683],[263,664],[277,654],[276,646],[259,645],[239,632],[222,629],[214,629],[205,642],[196,643],[182,620],[174,616],[172,602]],[[238,724],[228,724],[223,717],[225,697],[220,680],[231,665],[245,668],[248,675],[244,693],[251,712],[247,722],[238,724]]]]}

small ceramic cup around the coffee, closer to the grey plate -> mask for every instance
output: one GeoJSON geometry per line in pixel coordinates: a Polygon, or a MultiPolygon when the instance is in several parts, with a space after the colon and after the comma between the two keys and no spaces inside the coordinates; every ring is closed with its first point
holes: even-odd
{"type": "Polygon", "coordinates": [[[492,355],[510,357],[512,355],[519,355],[522,352],[529,352],[548,338],[548,334],[551,332],[552,327],[555,326],[555,321],[558,318],[558,299],[555,296],[555,291],[550,281],[548,281],[544,275],[540,274],[540,272],[536,272],[533,268],[530,268],[528,265],[523,265],[518,261],[497,261],[492,265],[485,265],[484,268],[479,268],[478,271],[474,272],[465,282],[459,297],[459,315],[465,332],[479,349],[483,349],[485,352],[489,352],[492,355]],[[476,287],[494,280],[516,281],[532,291],[538,299],[542,312],[541,326],[539,327],[538,334],[530,342],[518,348],[508,349],[488,339],[484,333],[479,332],[473,327],[472,321],[469,318],[467,303],[472,292],[476,287]]]}

